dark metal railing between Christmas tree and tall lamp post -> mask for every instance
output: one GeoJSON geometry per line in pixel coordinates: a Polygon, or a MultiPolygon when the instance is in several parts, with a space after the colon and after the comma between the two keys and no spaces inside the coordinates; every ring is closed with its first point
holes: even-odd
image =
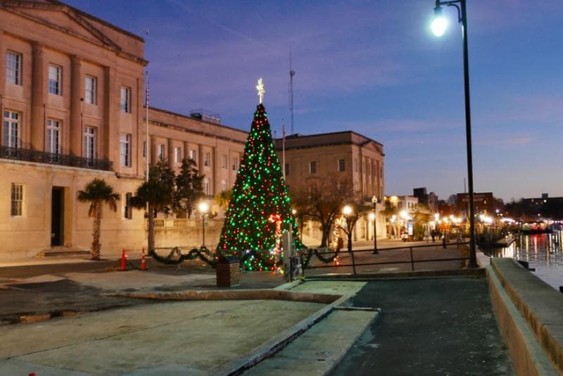
{"type": "MultiPolygon", "coordinates": [[[[455,242],[455,243],[444,243],[443,244],[443,248],[446,249],[448,246],[456,246],[457,249],[460,249],[460,246],[464,246],[464,245],[469,245],[469,242],[455,242]]],[[[405,249],[408,249],[409,251],[409,256],[410,258],[408,260],[392,260],[392,261],[368,261],[368,262],[362,262],[362,263],[357,263],[355,260],[355,253],[373,253],[374,250],[373,249],[361,249],[361,250],[356,250],[356,251],[347,251],[347,250],[341,250],[338,253],[336,251],[324,251],[324,252],[320,252],[320,251],[313,251],[312,253],[310,253],[310,259],[307,261],[305,268],[303,268],[303,272],[305,269],[317,269],[317,268],[352,268],[353,270],[353,274],[358,274],[356,268],[359,266],[369,266],[369,265],[396,265],[396,264],[410,264],[410,270],[411,271],[415,271],[415,263],[430,263],[430,262],[445,262],[445,261],[468,261],[469,262],[469,256],[467,257],[455,257],[455,258],[417,258],[415,259],[414,254],[413,254],[413,249],[424,249],[424,248],[436,248],[437,244],[428,244],[428,245],[419,245],[419,246],[402,246],[402,247],[392,247],[392,248],[378,248],[377,251],[379,251],[381,253],[381,251],[388,251],[388,252],[392,252],[392,251],[404,251],[405,249]],[[314,258],[315,256],[317,256],[317,258],[319,258],[320,261],[321,258],[319,257],[319,255],[321,255],[322,258],[325,258],[324,255],[327,255],[328,258],[331,258],[333,256],[344,256],[346,254],[350,254],[350,259],[352,263],[346,263],[346,264],[342,264],[342,263],[334,263],[334,261],[330,261],[330,265],[329,263],[326,263],[324,265],[310,265],[310,261],[312,260],[312,258],[314,258]]],[[[298,254],[301,258],[301,265],[305,265],[305,263],[303,262],[303,258],[306,256],[305,253],[309,253],[310,250],[305,249],[303,251],[300,251],[298,254]]],[[[324,262],[324,261],[322,261],[324,262]]]]}

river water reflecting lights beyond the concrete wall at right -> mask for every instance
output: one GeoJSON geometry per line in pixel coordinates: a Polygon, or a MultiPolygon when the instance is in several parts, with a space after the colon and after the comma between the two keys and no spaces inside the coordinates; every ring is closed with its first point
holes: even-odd
{"type": "Polygon", "coordinates": [[[498,250],[496,256],[528,261],[530,268],[536,268],[535,275],[559,291],[559,286],[563,286],[562,240],[563,230],[552,234],[521,234],[516,242],[498,250]]]}

